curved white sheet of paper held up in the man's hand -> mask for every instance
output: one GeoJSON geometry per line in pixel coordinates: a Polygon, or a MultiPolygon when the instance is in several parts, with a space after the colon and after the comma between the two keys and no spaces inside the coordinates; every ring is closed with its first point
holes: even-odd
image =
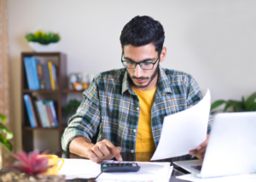
{"type": "Polygon", "coordinates": [[[207,139],[207,123],[211,108],[211,95],[185,111],[164,118],[159,145],[151,160],[189,154],[207,139]]]}

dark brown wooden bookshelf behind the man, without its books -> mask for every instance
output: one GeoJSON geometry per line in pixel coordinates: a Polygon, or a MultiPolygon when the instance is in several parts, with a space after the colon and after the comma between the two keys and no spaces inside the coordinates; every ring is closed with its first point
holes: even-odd
{"type": "MultiPolygon", "coordinates": [[[[24,151],[29,152],[33,151],[36,146],[38,147],[40,145],[40,142],[37,143],[37,139],[34,138],[35,135],[39,138],[40,141],[43,141],[44,144],[47,144],[49,142],[53,142],[51,140],[56,140],[55,148],[57,148],[56,151],[62,151],[61,150],[61,134],[64,131],[65,125],[67,125],[67,121],[62,121],[64,119],[62,117],[62,107],[67,105],[67,97],[68,93],[82,93],[83,91],[75,91],[75,90],[69,90],[67,89],[67,56],[66,54],[55,52],[55,53],[35,53],[35,52],[23,52],[21,53],[21,126],[22,126],[22,148],[24,151]],[[56,69],[56,85],[58,88],[55,90],[49,90],[49,89],[39,89],[39,90],[31,90],[29,89],[27,77],[26,77],[26,69],[25,67],[25,60],[26,57],[35,57],[35,59],[44,61],[45,63],[48,63],[49,61],[55,65],[56,69]],[[43,128],[42,123],[38,123],[38,128],[32,128],[31,122],[29,120],[27,111],[26,111],[26,103],[23,99],[24,95],[29,95],[31,97],[36,97],[37,100],[53,100],[56,104],[55,106],[55,114],[57,117],[58,127],[57,128],[43,128]],[[64,122],[64,125],[63,125],[64,122]],[[66,122],[66,123],[65,123],[66,122]],[[40,132],[39,135],[34,133],[40,132]],[[55,139],[52,139],[50,136],[47,136],[49,132],[55,136],[55,139]],[[45,134],[46,137],[42,137],[45,134]],[[56,137],[57,136],[57,137],[56,137]],[[47,140],[48,139],[48,140],[47,140]],[[35,142],[36,141],[36,142],[35,142]]],[[[43,73],[44,74],[44,73],[43,73]]],[[[40,85],[41,87],[41,85],[40,85]]],[[[38,113],[38,112],[37,112],[38,113]]],[[[39,148],[39,151],[46,151],[49,150],[48,148],[44,148],[45,145],[42,145],[41,148],[39,148]]]]}

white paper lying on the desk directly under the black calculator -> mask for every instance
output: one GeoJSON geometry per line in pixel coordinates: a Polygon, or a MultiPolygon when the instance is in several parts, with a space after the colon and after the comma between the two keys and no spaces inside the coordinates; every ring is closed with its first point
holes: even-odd
{"type": "MultiPolygon", "coordinates": [[[[154,181],[167,179],[170,162],[137,162],[141,167],[138,172],[102,173],[97,181],[154,181]]],[[[172,173],[172,172],[171,172],[172,173]]],[[[168,181],[168,180],[167,180],[168,181]]]]}

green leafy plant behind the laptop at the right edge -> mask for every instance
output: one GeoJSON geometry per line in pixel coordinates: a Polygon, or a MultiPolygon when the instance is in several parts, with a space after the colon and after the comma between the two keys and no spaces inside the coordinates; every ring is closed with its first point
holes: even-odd
{"type": "Polygon", "coordinates": [[[244,97],[241,97],[241,101],[238,100],[217,100],[212,103],[211,105],[211,113],[214,114],[217,111],[213,111],[214,109],[218,108],[218,106],[224,104],[224,112],[228,111],[234,111],[234,112],[239,112],[239,111],[256,111],[256,92],[251,94],[247,100],[244,99],[244,97]]]}

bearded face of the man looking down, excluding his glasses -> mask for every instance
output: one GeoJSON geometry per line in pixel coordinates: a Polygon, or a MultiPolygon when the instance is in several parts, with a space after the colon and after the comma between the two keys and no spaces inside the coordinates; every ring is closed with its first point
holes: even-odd
{"type": "MultiPolygon", "coordinates": [[[[126,45],[124,47],[124,60],[132,60],[137,63],[154,63],[158,56],[159,54],[155,50],[153,43],[140,47],[134,47],[132,45],[126,45]]],[[[162,62],[162,60],[160,62],[162,62]]],[[[137,65],[134,69],[126,69],[129,77],[131,78],[132,86],[143,91],[155,88],[159,71],[158,66],[159,60],[157,60],[152,70],[143,70],[140,65],[137,65]]]]}

